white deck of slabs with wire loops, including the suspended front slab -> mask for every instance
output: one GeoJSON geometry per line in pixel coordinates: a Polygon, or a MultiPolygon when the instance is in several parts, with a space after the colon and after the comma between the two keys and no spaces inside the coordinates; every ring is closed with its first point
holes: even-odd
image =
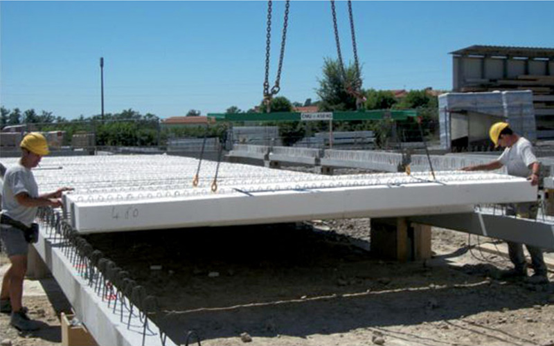
{"type": "Polygon", "coordinates": [[[475,204],[535,201],[526,179],[479,172],[322,176],[166,155],[44,158],[45,192],[72,186],[67,217],[80,233],[398,217],[472,211],[475,204]],[[59,167],[62,167],[61,169],[59,167]]]}

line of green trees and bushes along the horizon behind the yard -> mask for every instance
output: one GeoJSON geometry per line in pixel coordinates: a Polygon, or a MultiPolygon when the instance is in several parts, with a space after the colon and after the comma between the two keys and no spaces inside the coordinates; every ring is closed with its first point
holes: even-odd
{"type": "MultiPolygon", "coordinates": [[[[322,76],[319,78],[319,88],[316,94],[319,100],[312,102],[291,102],[285,96],[278,96],[271,100],[271,112],[290,112],[294,107],[316,106],[319,111],[352,111],[356,110],[356,99],[345,89],[345,85],[351,82],[348,78],[355,75],[355,66],[350,64],[344,67],[346,73],[342,74],[338,60],[325,59],[322,76]]],[[[425,135],[434,134],[437,127],[438,100],[434,95],[429,95],[427,90],[412,90],[402,98],[397,98],[392,91],[380,91],[375,89],[361,90],[366,97],[364,109],[418,109],[422,116],[425,135]]],[[[242,111],[236,106],[226,109],[226,113],[256,113],[267,111],[265,104],[260,102],[256,108],[242,111]]],[[[186,116],[200,116],[200,111],[190,109],[186,116]]],[[[19,108],[6,109],[0,107],[0,127],[9,125],[26,124],[29,131],[66,131],[64,145],[69,145],[71,136],[78,133],[93,132],[96,134],[96,144],[109,145],[165,145],[168,138],[172,137],[203,137],[220,136],[224,131],[223,125],[211,125],[209,127],[160,127],[160,118],[152,113],[141,114],[133,109],[126,109],[120,113],[107,113],[102,118],[100,115],[67,120],[55,116],[50,111],[37,113],[35,109],[21,111],[19,108]]],[[[306,134],[316,131],[328,131],[328,122],[276,122],[260,125],[276,125],[285,145],[292,145],[306,134]]],[[[386,138],[391,135],[392,128],[400,130],[404,141],[420,139],[420,131],[413,120],[357,120],[333,122],[335,131],[361,131],[372,130],[377,136],[377,144],[383,146],[386,138]]]]}

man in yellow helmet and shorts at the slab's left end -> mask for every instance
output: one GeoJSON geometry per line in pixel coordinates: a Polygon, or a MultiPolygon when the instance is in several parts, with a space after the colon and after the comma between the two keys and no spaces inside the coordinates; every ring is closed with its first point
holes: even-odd
{"type": "Polygon", "coordinates": [[[37,239],[38,228],[36,224],[33,225],[33,221],[38,207],[62,206],[62,192],[72,189],[60,188],[55,192],[39,194],[31,170],[49,152],[46,138],[42,134],[31,132],[21,140],[19,146],[19,164],[8,167],[3,176],[0,237],[11,266],[2,280],[0,311],[11,313],[12,326],[21,331],[32,331],[39,329],[40,323],[27,317],[27,309],[21,304],[21,296],[27,271],[28,243],[36,242],[37,239]]]}

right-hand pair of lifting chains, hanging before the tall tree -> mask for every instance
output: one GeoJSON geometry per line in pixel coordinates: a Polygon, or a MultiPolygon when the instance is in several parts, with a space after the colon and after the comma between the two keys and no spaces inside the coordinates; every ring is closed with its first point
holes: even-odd
{"type": "Polygon", "coordinates": [[[334,40],[337,43],[337,55],[339,57],[339,67],[341,69],[341,74],[344,82],[344,89],[347,93],[356,98],[356,107],[360,109],[362,104],[365,102],[365,96],[361,93],[361,78],[358,62],[358,49],[356,44],[356,34],[354,29],[354,17],[352,16],[352,1],[348,0],[348,17],[350,18],[350,33],[352,33],[352,50],[354,51],[354,69],[355,75],[354,80],[348,82],[346,76],[346,71],[344,69],[344,63],[342,60],[341,53],[341,42],[339,39],[339,28],[337,26],[337,11],[334,8],[334,0],[331,0],[331,12],[333,17],[333,28],[334,28],[334,40]]]}

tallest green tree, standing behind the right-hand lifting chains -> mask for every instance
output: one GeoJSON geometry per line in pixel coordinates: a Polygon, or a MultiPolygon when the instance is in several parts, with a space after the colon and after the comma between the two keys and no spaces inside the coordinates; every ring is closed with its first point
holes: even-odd
{"type": "MultiPolygon", "coordinates": [[[[323,77],[319,79],[319,89],[316,90],[321,103],[321,111],[356,110],[356,98],[348,93],[345,86],[356,79],[355,65],[350,63],[341,71],[338,60],[325,58],[323,61],[323,77]]],[[[361,71],[360,71],[361,75],[361,71]]]]}

